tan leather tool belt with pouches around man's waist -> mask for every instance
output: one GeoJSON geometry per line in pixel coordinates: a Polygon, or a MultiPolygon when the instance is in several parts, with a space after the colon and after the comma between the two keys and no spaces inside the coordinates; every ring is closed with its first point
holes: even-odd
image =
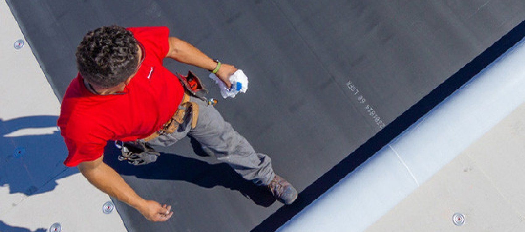
{"type": "Polygon", "coordinates": [[[182,98],[181,104],[178,106],[178,109],[175,111],[173,116],[169,121],[167,121],[162,128],[158,131],[155,131],[150,136],[139,139],[137,141],[122,142],[115,141],[115,146],[121,151],[119,156],[119,161],[128,161],[133,165],[142,165],[151,162],[155,162],[157,157],[160,156],[160,152],[155,151],[153,148],[148,146],[146,142],[151,141],[152,139],[159,137],[160,135],[170,134],[175,132],[179,125],[184,123],[186,117],[192,117],[191,127],[195,128],[197,126],[198,119],[198,105],[197,103],[190,101],[190,96],[197,97],[208,104],[215,105],[215,102],[210,102],[204,97],[208,93],[201,80],[191,71],[188,72],[187,76],[181,75],[179,73],[175,74],[178,80],[184,86],[184,96],[182,98]]]}

